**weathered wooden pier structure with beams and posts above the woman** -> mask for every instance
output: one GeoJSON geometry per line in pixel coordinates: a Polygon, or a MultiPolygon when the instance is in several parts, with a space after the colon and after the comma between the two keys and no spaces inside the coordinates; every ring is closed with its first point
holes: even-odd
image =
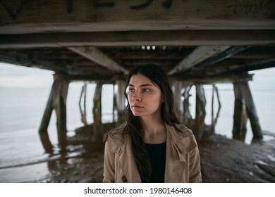
{"type": "Polygon", "coordinates": [[[102,85],[114,85],[116,94],[110,99],[119,125],[125,108],[125,77],[145,63],[167,72],[181,120],[193,128],[198,140],[206,129],[214,132],[219,114],[212,110],[212,125],[204,124],[203,85],[213,86],[214,103],[214,98],[219,102],[219,83],[233,84],[233,136],[245,136],[249,119],[253,136],[262,139],[248,72],[275,67],[274,13],[275,1],[269,0],[0,1],[0,62],[55,72],[39,127],[47,153],[53,151],[47,130],[53,111],[59,146],[66,149],[66,97],[71,82],[83,82],[79,101],[83,125],[87,125],[86,85],[97,84],[92,112],[100,139],[102,85]],[[189,109],[192,87],[196,89],[194,119],[189,109]]]}

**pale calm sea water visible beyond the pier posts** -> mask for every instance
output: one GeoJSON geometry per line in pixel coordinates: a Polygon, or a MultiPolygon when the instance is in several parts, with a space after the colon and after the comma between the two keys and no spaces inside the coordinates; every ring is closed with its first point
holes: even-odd
{"type": "MultiPolygon", "coordinates": [[[[250,82],[252,96],[255,101],[262,130],[275,132],[275,89],[255,87],[250,82]]],[[[92,120],[92,98],[95,84],[87,85],[87,123],[92,120]]],[[[216,134],[232,137],[234,93],[233,86],[218,85],[221,101],[221,111],[215,127],[216,134]]],[[[80,92],[82,83],[71,83],[67,97],[67,129],[68,135],[82,127],[80,115],[80,92]]],[[[38,129],[48,100],[51,83],[48,87],[0,87],[0,182],[32,182],[43,179],[49,175],[47,163],[49,155],[39,139],[38,129]]],[[[212,87],[205,86],[207,97],[207,117],[205,123],[211,123],[212,87]]],[[[111,85],[104,85],[102,96],[102,121],[113,120],[113,94],[111,85]]],[[[195,113],[195,90],[190,99],[190,110],[195,113]]],[[[214,108],[217,108],[215,103],[214,108]]],[[[57,131],[55,113],[51,115],[49,124],[49,137],[52,144],[57,144],[57,131]]],[[[264,136],[269,140],[269,136],[264,136]]],[[[247,122],[247,136],[245,143],[250,144],[252,131],[247,122]]]]}

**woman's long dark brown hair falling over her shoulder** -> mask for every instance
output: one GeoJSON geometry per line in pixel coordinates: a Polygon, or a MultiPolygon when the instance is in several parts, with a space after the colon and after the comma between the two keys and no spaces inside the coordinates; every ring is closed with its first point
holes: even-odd
{"type": "MultiPolygon", "coordinates": [[[[161,105],[162,120],[167,125],[180,123],[180,121],[178,120],[178,113],[176,112],[174,104],[173,91],[171,89],[169,78],[164,70],[159,68],[157,65],[139,65],[128,74],[124,89],[124,94],[127,98],[127,101],[127,87],[130,82],[130,78],[133,75],[138,74],[147,77],[161,90],[161,93],[164,96],[164,102],[161,105]]],[[[151,167],[147,152],[145,150],[144,130],[142,129],[140,117],[134,116],[132,111],[130,110],[129,101],[126,106],[126,127],[124,129],[124,132],[129,132],[130,134],[135,162],[137,163],[142,182],[149,182],[149,178],[151,177],[151,167]]]]}

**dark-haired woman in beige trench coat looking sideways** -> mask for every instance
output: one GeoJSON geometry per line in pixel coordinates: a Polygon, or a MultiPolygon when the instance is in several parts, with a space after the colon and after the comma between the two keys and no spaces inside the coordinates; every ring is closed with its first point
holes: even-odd
{"type": "Polygon", "coordinates": [[[178,120],[164,70],[138,66],[125,95],[126,123],[104,136],[103,182],[202,182],[195,136],[178,120]]]}

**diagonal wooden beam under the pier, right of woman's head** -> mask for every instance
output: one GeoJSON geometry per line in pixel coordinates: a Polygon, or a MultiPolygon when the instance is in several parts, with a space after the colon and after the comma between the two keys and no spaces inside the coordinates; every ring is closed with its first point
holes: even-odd
{"type": "Polygon", "coordinates": [[[186,58],[176,65],[171,71],[168,72],[169,75],[173,75],[176,72],[185,72],[186,70],[194,67],[198,63],[216,56],[219,53],[225,51],[230,46],[199,46],[192,53],[190,53],[186,58]]]}

